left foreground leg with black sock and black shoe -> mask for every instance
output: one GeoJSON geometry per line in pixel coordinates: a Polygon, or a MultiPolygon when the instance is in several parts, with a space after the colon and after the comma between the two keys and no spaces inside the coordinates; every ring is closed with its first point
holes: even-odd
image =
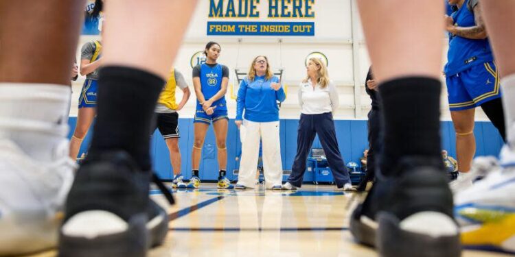
{"type": "Polygon", "coordinates": [[[95,133],[67,199],[61,256],[145,256],[168,231],[148,197],[150,126],[195,5],[105,2],[95,133]]]}

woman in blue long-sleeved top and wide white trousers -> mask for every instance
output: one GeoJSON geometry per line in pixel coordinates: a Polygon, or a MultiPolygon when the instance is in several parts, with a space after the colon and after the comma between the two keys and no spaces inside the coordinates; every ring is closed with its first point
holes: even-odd
{"type": "Polygon", "coordinates": [[[242,158],[236,189],[255,185],[258,167],[260,138],[262,140],[265,187],[281,189],[282,161],[279,143],[279,107],[286,94],[268,65],[266,56],[257,56],[251,64],[249,75],[238,90],[236,125],[242,138],[242,158]],[[244,119],[243,119],[244,118],[244,119]]]}

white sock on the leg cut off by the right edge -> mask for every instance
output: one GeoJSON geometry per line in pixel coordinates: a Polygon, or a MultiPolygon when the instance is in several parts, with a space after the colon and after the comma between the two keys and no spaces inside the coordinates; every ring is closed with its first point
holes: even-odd
{"type": "Polygon", "coordinates": [[[507,143],[515,147],[515,74],[501,79],[507,143]]]}

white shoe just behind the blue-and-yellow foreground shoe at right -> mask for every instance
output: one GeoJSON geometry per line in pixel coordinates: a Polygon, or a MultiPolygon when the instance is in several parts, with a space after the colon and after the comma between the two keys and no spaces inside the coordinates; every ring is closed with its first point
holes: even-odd
{"type": "Polygon", "coordinates": [[[474,158],[472,167],[468,173],[459,173],[457,178],[450,182],[449,186],[453,193],[459,193],[470,188],[474,182],[481,180],[489,171],[499,169],[499,163],[492,156],[481,156],[474,158]]]}

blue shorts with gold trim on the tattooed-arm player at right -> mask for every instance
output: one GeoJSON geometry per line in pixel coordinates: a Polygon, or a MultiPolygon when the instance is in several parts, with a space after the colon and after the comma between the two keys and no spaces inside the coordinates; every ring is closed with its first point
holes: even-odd
{"type": "Polygon", "coordinates": [[[467,110],[501,97],[499,73],[494,62],[472,66],[446,77],[449,109],[467,110]]]}

